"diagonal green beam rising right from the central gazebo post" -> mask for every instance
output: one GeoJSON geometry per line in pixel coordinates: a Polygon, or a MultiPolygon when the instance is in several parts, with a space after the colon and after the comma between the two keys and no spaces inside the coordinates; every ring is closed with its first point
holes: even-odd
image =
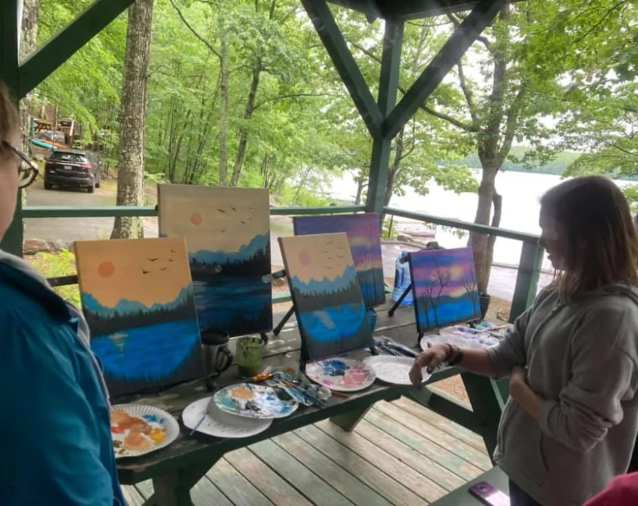
{"type": "Polygon", "coordinates": [[[482,0],[476,5],[386,118],[383,126],[385,137],[393,139],[399,133],[481,32],[492,23],[505,1],[482,0]]]}

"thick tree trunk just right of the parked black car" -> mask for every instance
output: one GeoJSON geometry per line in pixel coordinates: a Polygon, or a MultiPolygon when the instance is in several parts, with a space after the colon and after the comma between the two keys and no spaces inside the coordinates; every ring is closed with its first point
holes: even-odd
{"type": "MultiPolygon", "coordinates": [[[[144,127],[152,24],[153,0],[136,0],[129,8],[129,26],[126,29],[120,111],[118,206],[142,206],[144,202],[144,127]]],[[[141,218],[115,218],[111,239],[143,236],[141,218]]]]}

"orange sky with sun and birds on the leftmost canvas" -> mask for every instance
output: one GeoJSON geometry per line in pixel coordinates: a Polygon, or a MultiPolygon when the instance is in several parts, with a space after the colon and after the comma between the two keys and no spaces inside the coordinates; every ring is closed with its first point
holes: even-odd
{"type": "Polygon", "coordinates": [[[107,307],[168,303],[190,283],[184,239],[76,241],[75,250],[80,290],[107,307]]]}

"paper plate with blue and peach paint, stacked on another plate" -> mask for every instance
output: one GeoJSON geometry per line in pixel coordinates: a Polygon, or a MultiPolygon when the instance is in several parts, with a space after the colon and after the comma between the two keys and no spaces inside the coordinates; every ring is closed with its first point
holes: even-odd
{"type": "Polygon", "coordinates": [[[270,386],[252,383],[221,388],[215,392],[213,400],[223,412],[257,419],[284,418],[292,415],[299,406],[292,399],[280,398],[270,386]]]}

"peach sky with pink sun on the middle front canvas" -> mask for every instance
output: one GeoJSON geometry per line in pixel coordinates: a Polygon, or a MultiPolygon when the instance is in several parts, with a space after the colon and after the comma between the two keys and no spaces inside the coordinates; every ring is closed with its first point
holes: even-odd
{"type": "Polygon", "coordinates": [[[348,265],[353,265],[344,232],[280,237],[279,243],[287,272],[303,283],[311,279],[335,279],[348,265]]]}

